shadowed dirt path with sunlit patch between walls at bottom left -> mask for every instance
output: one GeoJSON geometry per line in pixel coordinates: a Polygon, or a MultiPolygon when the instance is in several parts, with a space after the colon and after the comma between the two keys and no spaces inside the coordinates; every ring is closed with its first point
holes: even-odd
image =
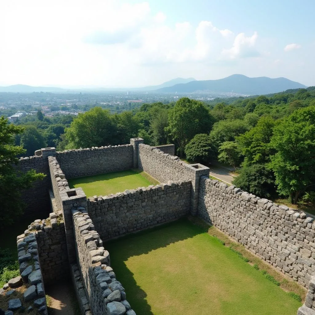
{"type": "Polygon", "coordinates": [[[49,315],[76,315],[73,307],[73,288],[71,283],[61,283],[49,287],[46,294],[51,297],[49,315]]]}

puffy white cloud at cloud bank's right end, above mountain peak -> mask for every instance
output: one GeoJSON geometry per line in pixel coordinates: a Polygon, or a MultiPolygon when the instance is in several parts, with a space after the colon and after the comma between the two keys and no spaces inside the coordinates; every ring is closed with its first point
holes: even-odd
{"type": "Polygon", "coordinates": [[[244,33],[239,33],[234,39],[232,48],[222,50],[222,57],[237,59],[259,56],[260,54],[255,48],[257,38],[257,32],[254,32],[250,37],[246,37],[244,33]]]}

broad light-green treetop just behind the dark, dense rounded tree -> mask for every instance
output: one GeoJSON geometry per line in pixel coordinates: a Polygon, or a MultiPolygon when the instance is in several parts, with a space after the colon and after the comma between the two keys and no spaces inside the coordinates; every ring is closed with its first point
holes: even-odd
{"type": "Polygon", "coordinates": [[[250,127],[240,119],[221,120],[213,125],[210,132],[214,145],[218,148],[225,141],[234,141],[238,135],[243,134],[250,127]]]}

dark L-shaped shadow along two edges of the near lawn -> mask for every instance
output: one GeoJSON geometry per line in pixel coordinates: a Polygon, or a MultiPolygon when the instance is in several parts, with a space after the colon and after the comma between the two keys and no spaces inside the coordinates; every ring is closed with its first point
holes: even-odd
{"type": "Polygon", "coordinates": [[[153,313],[151,306],[146,301],[146,292],[137,285],[134,274],[128,269],[125,261],[129,257],[148,254],[152,250],[166,247],[171,243],[183,241],[204,232],[207,232],[207,228],[193,225],[187,218],[183,218],[104,244],[105,249],[111,255],[111,266],[117,274],[118,281],[125,287],[127,300],[137,315],[153,315],[153,313]]]}

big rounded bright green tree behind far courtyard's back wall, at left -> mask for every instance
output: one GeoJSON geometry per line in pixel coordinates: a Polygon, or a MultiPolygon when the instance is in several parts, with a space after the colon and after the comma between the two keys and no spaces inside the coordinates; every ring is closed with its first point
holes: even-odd
{"type": "Polygon", "coordinates": [[[79,113],[65,135],[69,141],[66,148],[90,148],[112,144],[115,134],[114,126],[108,110],[94,107],[83,114],[79,113]]]}

